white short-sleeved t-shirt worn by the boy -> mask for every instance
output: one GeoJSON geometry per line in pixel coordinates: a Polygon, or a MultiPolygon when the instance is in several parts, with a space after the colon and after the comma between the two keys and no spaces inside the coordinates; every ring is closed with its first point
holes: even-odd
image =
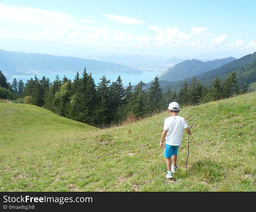
{"type": "Polygon", "coordinates": [[[182,142],[183,129],[189,125],[180,116],[170,116],[164,120],[163,129],[168,130],[165,143],[168,145],[179,146],[182,142]]]}

